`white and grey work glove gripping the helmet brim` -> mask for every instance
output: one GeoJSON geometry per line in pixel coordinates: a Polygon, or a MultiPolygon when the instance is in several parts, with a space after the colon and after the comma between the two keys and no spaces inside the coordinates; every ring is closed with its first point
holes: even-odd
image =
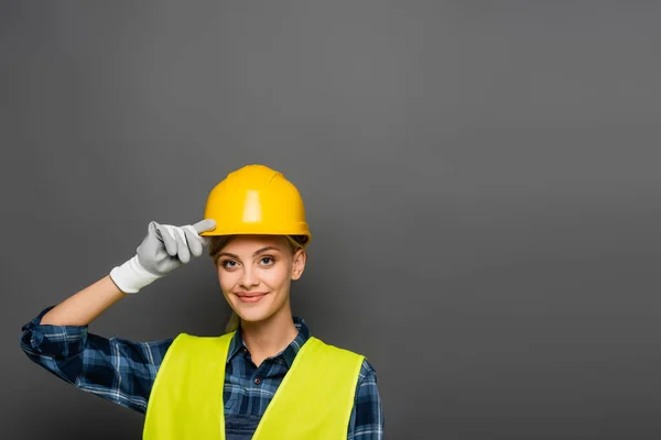
{"type": "Polygon", "coordinates": [[[202,255],[210,238],[199,233],[215,228],[216,221],[212,219],[184,227],[152,221],[136,256],[110,271],[110,278],[124,294],[137,294],[142,287],[188,263],[191,254],[202,255]]]}

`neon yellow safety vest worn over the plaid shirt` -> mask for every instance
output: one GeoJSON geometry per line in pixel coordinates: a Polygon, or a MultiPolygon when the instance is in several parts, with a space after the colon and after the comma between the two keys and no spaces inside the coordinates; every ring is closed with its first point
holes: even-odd
{"type": "MultiPolygon", "coordinates": [[[[181,333],[174,339],[152,387],[143,439],[225,440],[223,389],[232,337],[181,333]]],[[[310,338],[252,438],[346,439],[364,359],[310,338]]]]}

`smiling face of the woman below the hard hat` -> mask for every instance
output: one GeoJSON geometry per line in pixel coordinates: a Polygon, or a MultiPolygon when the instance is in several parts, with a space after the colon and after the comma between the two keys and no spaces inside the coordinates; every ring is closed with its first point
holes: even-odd
{"type": "Polygon", "coordinates": [[[290,309],[290,286],[305,267],[305,253],[292,254],[280,235],[238,235],[218,253],[216,268],[223,295],[250,322],[290,309]]]}

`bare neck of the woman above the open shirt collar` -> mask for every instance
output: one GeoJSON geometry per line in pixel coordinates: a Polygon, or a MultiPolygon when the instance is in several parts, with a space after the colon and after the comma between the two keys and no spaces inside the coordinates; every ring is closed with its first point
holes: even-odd
{"type": "Polygon", "coordinates": [[[299,334],[292,318],[292,310],[285,304],[268,319],[257,322],[241,320],[241,336],[252,362],[259,366],[267,358],[283,351],[299,334]]]}

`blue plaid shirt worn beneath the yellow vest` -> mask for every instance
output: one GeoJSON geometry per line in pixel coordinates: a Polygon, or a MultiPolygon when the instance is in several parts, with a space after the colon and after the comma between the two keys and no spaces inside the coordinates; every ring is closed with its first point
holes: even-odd
{"type": "MultiPolygon", "coordinates": [[[[149,395],[173,339],[131,342],[89,333],[87,326],[41,324],[47,307],[23,326],[21,348],[36,364],[76,387],[99,397],[147,413],[149,395]]],[[[227,358],[224,403],[226,432],[230,438],[250,438],[296,353],[310,338],[305,321],[294,318],[299,334],[280,354],[258,367],[251,361],[240,330],[227,358]]],[[[381,440],[383,413],[377,375],[364,361],[347,439],[381,440]]]]}

